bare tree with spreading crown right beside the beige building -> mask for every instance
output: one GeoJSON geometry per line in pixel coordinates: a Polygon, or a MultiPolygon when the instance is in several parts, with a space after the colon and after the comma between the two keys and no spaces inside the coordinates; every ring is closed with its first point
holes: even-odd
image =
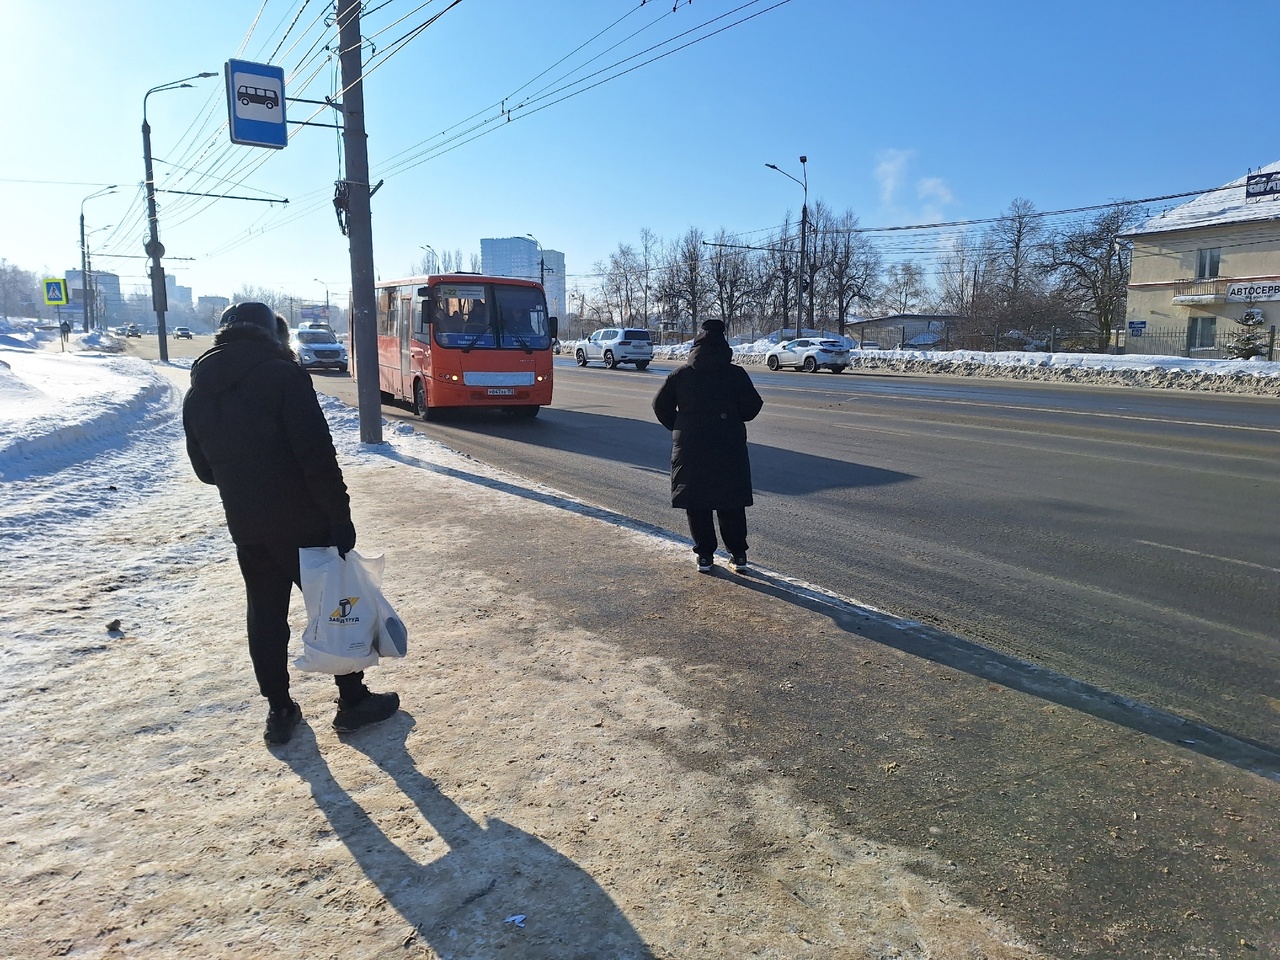
{"type": "Polygon", "coordinates": [[[1137,205],[1116,204],[1048,244],[1047,266],[1057,280],[1057,293],[1091,332],[1098,352],[1110,344],[1128,302],[1132,251],[1117,238],[1140,219],[1137,205]]]}

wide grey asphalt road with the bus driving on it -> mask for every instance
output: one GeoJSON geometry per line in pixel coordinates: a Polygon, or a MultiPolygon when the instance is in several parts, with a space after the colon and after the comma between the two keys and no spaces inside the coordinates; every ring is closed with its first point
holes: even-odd
{"type": "MultiPolygon", "coordinates": [[[[669,369],[561,361],[535,421],[383,415],[684,532],[649,408],[669,369]]],[[[754,563],[1280,750],[1275,399],[751,374],[754,563]]],[[[348,378],[315,381],[356,402],[348,378]]]]}

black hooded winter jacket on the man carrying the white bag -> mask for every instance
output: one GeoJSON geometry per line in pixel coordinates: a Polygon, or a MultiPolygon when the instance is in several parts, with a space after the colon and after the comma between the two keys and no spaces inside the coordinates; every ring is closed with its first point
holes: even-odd
{"type": "Polygon", "coordinates": [[[221,330],[191,367],[187,456],[216,484],[237,544],[328,547],[351,499],[311,375],[256,326],[221,330]]]}

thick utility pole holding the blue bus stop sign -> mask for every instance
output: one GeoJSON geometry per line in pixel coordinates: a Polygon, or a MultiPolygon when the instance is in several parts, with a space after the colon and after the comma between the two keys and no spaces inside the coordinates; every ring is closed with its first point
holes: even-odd
{"type": "Polygon", "coordinates": [[[351,250],[351,346],[356,352],[360,439],[383,442],[383,397],[378,384],[378,300],[374,296],[374,225],[369,209],[369,137],[361,78],[361,0],[337,0],[342,51],[342,145],[347,160],[347,238],[351,250]]]}

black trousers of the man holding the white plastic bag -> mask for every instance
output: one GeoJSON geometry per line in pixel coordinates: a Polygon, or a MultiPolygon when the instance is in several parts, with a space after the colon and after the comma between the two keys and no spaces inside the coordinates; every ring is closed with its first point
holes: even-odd
{"type": "MultiPolygon", "coordinates": [[[[261,543],[236,547],[244,576],[248,657],[253,662],[257,689],[273,708],[289,704],[289,596],[302,584],[298,548],[293,544],[261,543]]],[[[365,675],[334,677],[338,696],[358,700],[365,675]]]]}

